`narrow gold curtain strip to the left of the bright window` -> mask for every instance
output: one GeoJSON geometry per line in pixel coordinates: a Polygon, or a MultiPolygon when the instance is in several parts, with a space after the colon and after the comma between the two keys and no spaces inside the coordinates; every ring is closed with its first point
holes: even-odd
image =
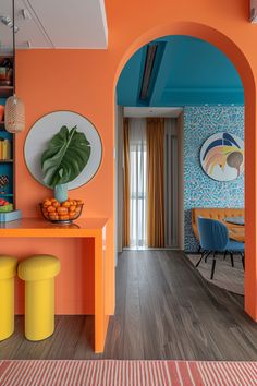
{"type": "Polygon", "coordinates": [[[123,246],[130,246],[130,121],[128,118],[123,120],[124,131],[124,176],[123,176],[123,246]]]}

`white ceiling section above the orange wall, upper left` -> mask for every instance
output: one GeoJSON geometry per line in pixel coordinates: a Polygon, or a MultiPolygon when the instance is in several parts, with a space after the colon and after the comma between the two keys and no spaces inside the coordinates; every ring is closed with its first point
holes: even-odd
{"type": "MultiPolygon", "coordinates": [[[[11,7],[11,0],[0,0],[0,16],[12,17],[11,7]]],[[[106,49],[108,45],[105,0],[15,0],[15,25],[17,48],[106,49]]],[[[12,48],[12,31],[2,23],[0,45],[4,51],[12,48]]]]}

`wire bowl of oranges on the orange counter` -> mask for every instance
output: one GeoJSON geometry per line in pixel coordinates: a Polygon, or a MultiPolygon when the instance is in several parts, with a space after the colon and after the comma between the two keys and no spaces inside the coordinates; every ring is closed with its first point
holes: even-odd
{"type": "Polygon", "coordinates": [[[56,198],[46,198],[40,205],[42,216],[57,224],[70,224],[77,219],[83,209],[82,200],[68,198],[60,203],[56,198]]]}

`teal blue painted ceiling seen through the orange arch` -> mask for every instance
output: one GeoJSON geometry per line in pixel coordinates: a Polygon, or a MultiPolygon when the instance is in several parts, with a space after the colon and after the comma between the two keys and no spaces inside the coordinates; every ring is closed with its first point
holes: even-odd
{"type": "Polygon", "coordinates": [[[158,48],[147,99],[139,98],[147,52],[144,46],[121,73],[117,86],[119,105],[244,104],[244,89],[236,69],[215,46],[189,36],[168,36],[152,43],[158,43],[158,48]]]}

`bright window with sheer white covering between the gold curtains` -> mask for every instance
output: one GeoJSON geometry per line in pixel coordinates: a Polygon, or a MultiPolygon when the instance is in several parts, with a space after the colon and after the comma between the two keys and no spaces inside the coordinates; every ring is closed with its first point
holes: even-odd
{"type": "Polygon", "coordinates": [[[131,246],[146,246],[146,120],[130,120],[131,246]]]}

